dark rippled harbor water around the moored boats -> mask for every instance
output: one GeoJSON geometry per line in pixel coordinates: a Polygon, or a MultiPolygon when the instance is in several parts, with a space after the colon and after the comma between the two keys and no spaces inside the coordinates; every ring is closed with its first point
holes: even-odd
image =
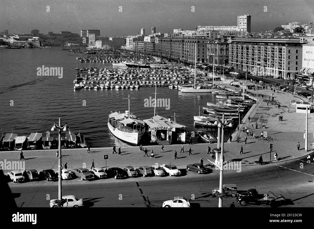
{"type": "MultiPolygon", "coordinates": [[[[108,114],[127,110],[128,100],[123,98],[129,94],[135,97],[130,100],[130,112],[142,120],[152,117],[154,107],[144,107],[144,99],[149,99],[149,96],[154,98],[155,88],[142,87],[133,91],[83,88],[75,91],[73,80],[76,67],[105,68],[112,65],[80,63],[76,60],[76,53],[61,48],[0,49],[0,131],[11,133],[13,128],[13,133],[18,136],[29,136],[36,131],[46,135],[49,131],[50,136],[55,137],[57,132],[50,129],[61,117],[62,124],[67,122],[72,132],[83,133],[91,147],[109,147],[114,143],[127,146],[109,132],[108,114]],[[63,78],[37,76],[37,68],[42,65],[62,67],[63,78]],[[86,106],[83,106],[83,101],[86,101],[86,106]]],[[[202,112],[207,102],[216,101],[211,93],[184,94],[168,87],[157,87],[157,93],[157,98],[170,99],[170,109],[157,107],[158,115],[170,117],[176,112],[176,121],[188,126],[189,131],[196,130],[193,116],[198,115],[199,106],[202,112]]],[[[230,131],[225,132],[225,140],[229,134],[230,131]]],[[[213,135],[216,135],[215,132],[213,135]]]]}

